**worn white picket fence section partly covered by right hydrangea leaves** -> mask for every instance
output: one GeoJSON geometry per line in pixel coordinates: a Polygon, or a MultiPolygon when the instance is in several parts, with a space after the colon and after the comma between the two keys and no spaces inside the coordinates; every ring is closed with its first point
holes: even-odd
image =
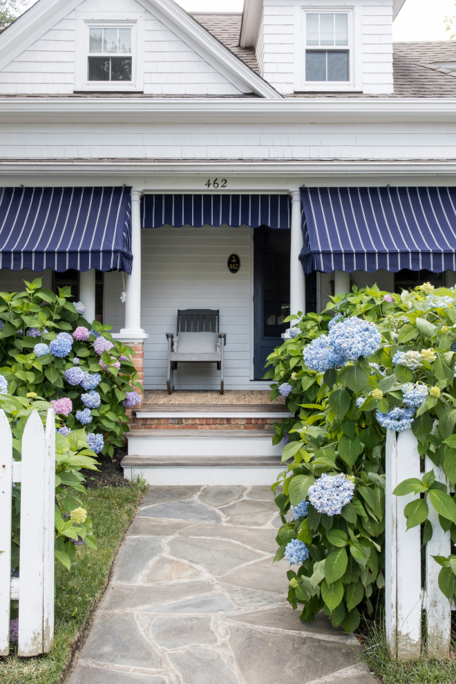
{"type": "MultiPolygon", "coordinates": [[[[386,437],[386,637],[393,656],[399,660],[421,654],[421,613],[426,610],[428,656],[446,658],[450,652],[451,605],[438,584],[441,567],[433,555],[450,554],[450,533],[439,525],[439,516],[429,504],[433,536],[426,544],[426,579],[421,586],[420,526],[406,529],[403,509],[416,495],[397,497],[395,487],[410,477],[421,477],[418,442],[412,430],[388,430],[386,437]]],[[[437,482],[448,485],[446,475],[426,457],[426,472],[433,470],[437,482]]]]}

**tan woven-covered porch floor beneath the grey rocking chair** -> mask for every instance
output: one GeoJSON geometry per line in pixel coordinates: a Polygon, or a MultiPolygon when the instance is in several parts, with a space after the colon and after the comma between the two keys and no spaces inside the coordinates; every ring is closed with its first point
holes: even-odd
{"type": "Polygon", "coordinates": [[[285,406],[285,399],[280,395],[270,401],[270,390],[226,390],[224,395],[220,395],[218,390],[177,390],[169,395],[167,390],[146,390],[144,392],[144,403],[158,404],[213,404],[231,406],[285,406]]]}

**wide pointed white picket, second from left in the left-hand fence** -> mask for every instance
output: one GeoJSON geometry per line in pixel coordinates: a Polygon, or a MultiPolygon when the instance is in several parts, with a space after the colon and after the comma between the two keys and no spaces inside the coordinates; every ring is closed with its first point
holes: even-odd
{"type": "Polygon", "coordinates": [[[32,411],[22,436],[19,656],[43,653],[44,427],[32,411]]]}

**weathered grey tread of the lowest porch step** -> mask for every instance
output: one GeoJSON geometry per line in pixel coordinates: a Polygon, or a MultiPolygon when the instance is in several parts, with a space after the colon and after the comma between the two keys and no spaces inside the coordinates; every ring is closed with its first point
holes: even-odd
{"type": "Polygon", "coordinates": [[[122,468],[142,466],[280,466],[280,456],[125,456],[122,468]]]}

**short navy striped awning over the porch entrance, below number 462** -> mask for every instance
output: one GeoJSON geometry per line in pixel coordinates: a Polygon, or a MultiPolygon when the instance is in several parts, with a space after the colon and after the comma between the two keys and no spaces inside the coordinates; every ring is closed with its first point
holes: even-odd
{"type": "Polygon", "coordinates": [[[142,227],[289,228],[287,195],[144,195],[142,227]]]}

